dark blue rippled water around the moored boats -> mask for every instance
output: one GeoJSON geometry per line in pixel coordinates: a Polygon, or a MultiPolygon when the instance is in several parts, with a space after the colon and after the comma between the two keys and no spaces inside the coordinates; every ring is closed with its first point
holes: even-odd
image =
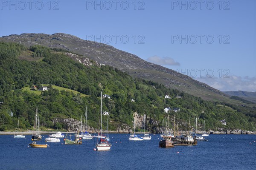
{"type": "Polygon", "coordinates": [[[0,169],[256,170],[256,135],[209,135],[208,142],[174,148],[159,148],[160,135],[138,142],[129,142],[129,134],[109,135],[111,150],[100,152],[93,150],[94,139],[83,140],[81,145],[65,145],[61,139],[60,143],[49,143],[48,148],[31,148],[31,135],[27,139],[2,135],[0,169]]]}

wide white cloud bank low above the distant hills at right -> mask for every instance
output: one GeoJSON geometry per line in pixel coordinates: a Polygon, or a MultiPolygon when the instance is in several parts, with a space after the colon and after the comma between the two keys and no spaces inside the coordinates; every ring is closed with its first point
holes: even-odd
{"type": "Polygon", "coordinates": [[[256,77],[196,77],[195,79],[220,91],[256,91],[256,77]]]}

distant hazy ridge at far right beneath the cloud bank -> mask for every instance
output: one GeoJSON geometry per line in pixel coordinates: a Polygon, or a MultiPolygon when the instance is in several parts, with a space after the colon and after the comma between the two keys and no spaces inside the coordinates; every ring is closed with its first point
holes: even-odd
{"type": "Polygon", "coordinates": [[[222,91],[228,96],[239,96],[242,99],[248,100],[250,102],[256,103],[256,91],[222,91]]]}

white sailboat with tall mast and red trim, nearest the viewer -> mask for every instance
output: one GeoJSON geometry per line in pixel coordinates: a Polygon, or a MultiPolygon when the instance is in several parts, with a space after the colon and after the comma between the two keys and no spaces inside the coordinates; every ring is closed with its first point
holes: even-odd
{"type": "MultiPolygon", "coordinates": [[[[100,95],[101,103],[100,103],[100,136],[102,136],[102,92],[100,95]]],[[[99,139],[99,138],[98,138],[99,139]]],[[[103,139],[100,138],[100,142],[96,144],[96,150],[110,150],[111,144],[103,139]]]]}

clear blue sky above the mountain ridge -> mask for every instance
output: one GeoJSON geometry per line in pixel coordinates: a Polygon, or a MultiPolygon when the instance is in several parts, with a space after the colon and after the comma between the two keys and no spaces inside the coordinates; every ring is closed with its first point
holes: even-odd
{"type": "Polygon", "coordinates": [[[221,91],[256,91],[256,1],[0,0],[0,36],[73,34],[221,91]]]}

